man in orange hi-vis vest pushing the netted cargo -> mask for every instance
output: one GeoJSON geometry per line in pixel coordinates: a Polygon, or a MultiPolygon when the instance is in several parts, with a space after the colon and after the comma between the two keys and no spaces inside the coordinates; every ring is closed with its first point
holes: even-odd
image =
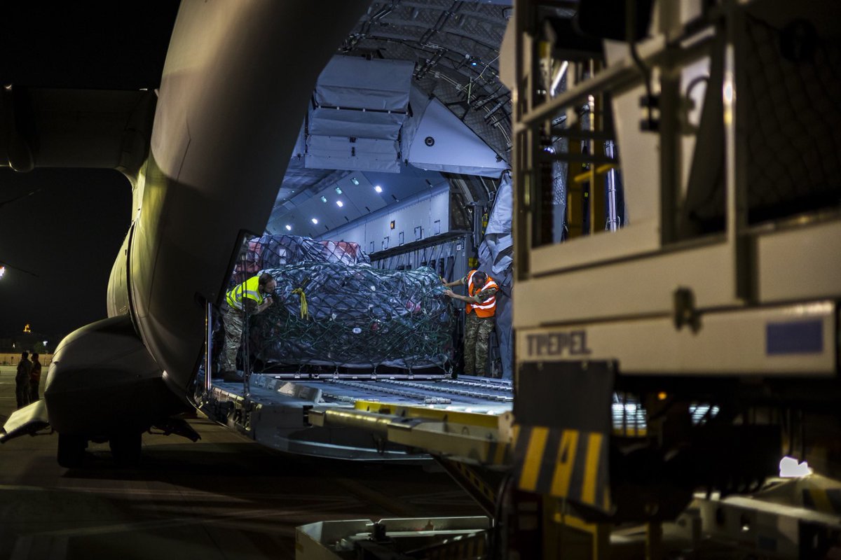
{"type": "Polygon", "coordinates": [[[484,376],[488,365],[488,338],[494,330],[496,291],[500,287],[493,278],[479,270],[471,270],[461,280],[443,284],[448,288],[454,285],[468,287],[467,296],[459,296],[452,290],[444,293],[467,304],[467,317],[464,320],[464,374],[484,376]]]}

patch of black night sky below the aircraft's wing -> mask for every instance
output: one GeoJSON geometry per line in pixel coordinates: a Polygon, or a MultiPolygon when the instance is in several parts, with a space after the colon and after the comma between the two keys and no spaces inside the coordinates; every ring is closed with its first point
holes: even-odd
{"type": "Polygon", "coordinates": [[[46,337],[107,317],[108,275],[129,229],[131,186],[114,170],[0,169],[0,337],[46,337]],[[27,270],[15,270],[9,265],[27,270]]]}

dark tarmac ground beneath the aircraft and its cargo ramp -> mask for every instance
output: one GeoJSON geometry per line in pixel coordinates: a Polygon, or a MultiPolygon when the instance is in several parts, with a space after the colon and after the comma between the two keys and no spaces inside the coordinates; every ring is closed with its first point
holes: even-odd
{"type": "MultiPolygon", "coordinates": [[[[0,367],[0,421],[14,407],[14,368],[0,367]]],[[[188,421],[201,440],[144,434],[136,468],[107,443],[62,468],[55,433],[0,446],[0,559],[278,560],[314,521],[483,515],[442,472],[287,455],[188,421]]]]}

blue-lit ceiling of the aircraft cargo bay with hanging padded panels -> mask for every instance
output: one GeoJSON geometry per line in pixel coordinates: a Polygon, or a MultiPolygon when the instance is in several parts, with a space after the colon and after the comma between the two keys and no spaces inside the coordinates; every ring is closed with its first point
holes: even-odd
{"type": "Polygon", "coordinates": [[[321,237],[442,186],[442,173],[498,178],[511,148],[499,63],[512,10],[372,3],[320,75],[267,231],[321,237]]]}

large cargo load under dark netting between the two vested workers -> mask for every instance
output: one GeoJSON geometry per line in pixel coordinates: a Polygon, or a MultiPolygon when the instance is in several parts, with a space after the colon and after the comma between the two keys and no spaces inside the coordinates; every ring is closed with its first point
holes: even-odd
{"type": "Polygon", "coordinates": [[[275,301],[251,317],[251,352],[264,363],[417,369],[450,358],[454,311],[429,267],[309,262],[265,272],[275,301]]]}

